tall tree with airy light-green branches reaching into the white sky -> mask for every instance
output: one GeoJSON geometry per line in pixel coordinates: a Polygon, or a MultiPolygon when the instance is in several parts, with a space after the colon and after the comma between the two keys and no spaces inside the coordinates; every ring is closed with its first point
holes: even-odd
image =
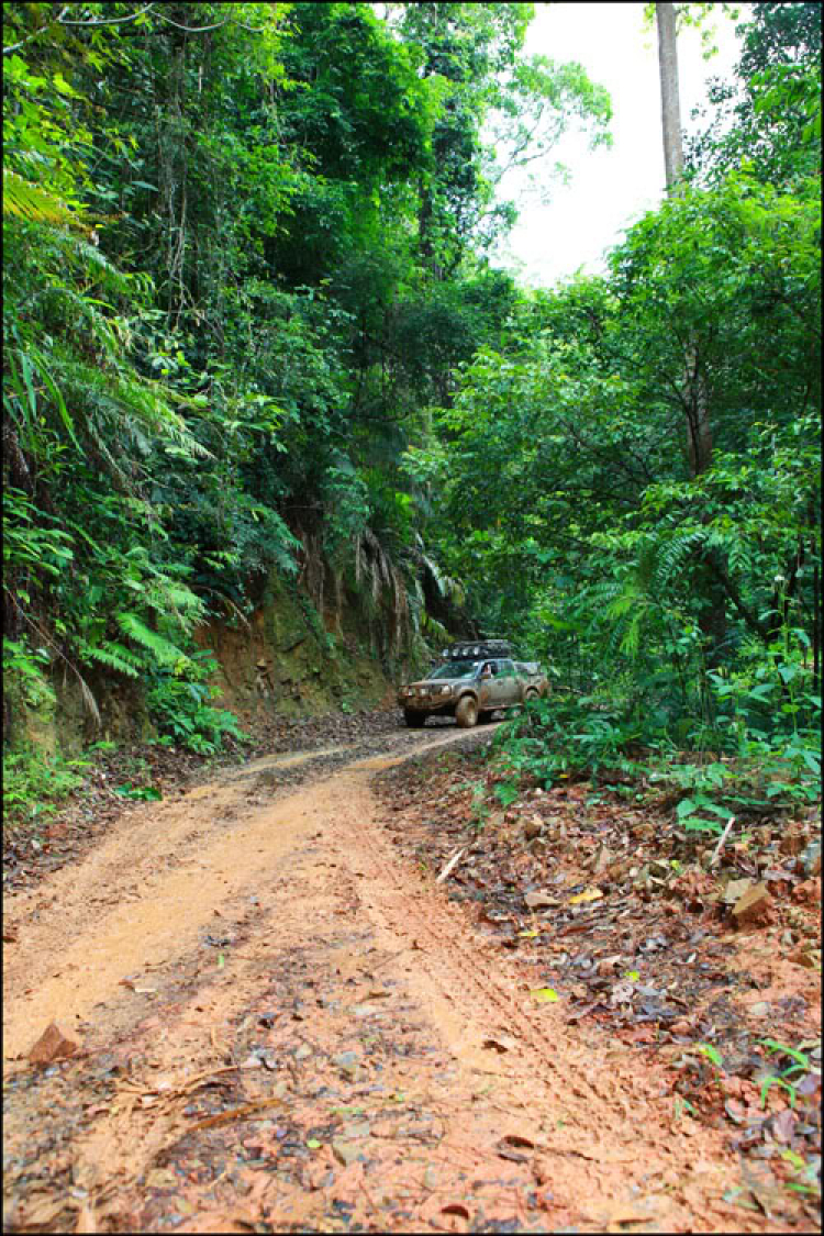
{"type": "Polygon", "coordinates": [[[441,279],[471,246],[487,250],[514,222],[514,205],[497,193],[507,171],[546,159],[573,122],[593,143],[609,140],[609,96],[581,66],[523,54],[529,4],[388,7],[400,7],[397,28],[420,47],[421,73],[440,91],[419,179],[418,240],[424,265],[441,279]]]}

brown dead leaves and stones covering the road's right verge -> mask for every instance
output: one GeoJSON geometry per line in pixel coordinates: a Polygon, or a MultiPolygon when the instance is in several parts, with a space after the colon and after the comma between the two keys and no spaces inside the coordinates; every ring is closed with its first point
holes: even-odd
{"type": "Polygon", "coordinates": [[[694,1117],[721,1128],[730,1153],[759,1161],[782,1198],[771,1217],[793,1199],[812,1214],[820,1198],[820,860],[810,874],[799,855],[815,848],[813,816],[789,827],[762,821],[733,844],[728,821],[709,844],[666,808],[636,810],[578,782],[526,786],[505,811],[479,818],[479,791],[492,801],[495,782],[477,750],[390,770],[380,787],[387,828],[430,869],[469,840],[471,863],[450,873],[447,895],[515,954],[532,1000],[557,1000],[568,1023],[608,1028],[657,1059],[675,1125],[694,1117]],[[804,1041],[798,1084],[784,1075],[765,1091],[804,1041]],[[715,1044],[717,1064],[698,1063],[702,1042],[715,1044]]]}

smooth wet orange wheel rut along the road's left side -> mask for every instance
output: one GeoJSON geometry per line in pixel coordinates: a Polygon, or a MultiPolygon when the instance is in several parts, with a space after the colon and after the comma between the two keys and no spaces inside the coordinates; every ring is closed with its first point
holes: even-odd
{"type": "MultiPolygon", "coordinates": [[[[415,735],[414,748],[394,758],[463,737],[415,735]]],[[[364,745],[376,744],[334,749],[334,758],[352,764],[364,745]]],[[[385,745],[384,738],[384,753],[385,745]]],[[[336,775],[329,759],[325,750],[257,760],[167,802],[136,806],[82,861],[7,896],[4,926],[14,926],[17,943],[4,964],[4,1059],[31,1048],[49,1021],[83,1032],[126,975],[193,950],[215,910],[253,891],[258,870],[304,839],[314,796],[336,775]],[[317,761],[325,775],[313,781],[317,761]]]]}

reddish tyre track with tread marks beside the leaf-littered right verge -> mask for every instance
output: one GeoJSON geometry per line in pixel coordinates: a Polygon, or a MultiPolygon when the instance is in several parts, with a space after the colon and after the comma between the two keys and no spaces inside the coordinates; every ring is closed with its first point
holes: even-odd
{"type": "MultiPolygon", "coordinates": [[[[609,1068],[603,1036],[593,1049],[573,1046],[556,1010],[535,1009],[528,984],[508,959],[477,942],[476,928],[463,906],[446,902],[430,887],[410,892],[409,885],[404,886],[404,860],[380,831],[377,811],[364,823],[367,829],[367,843],[358,834],[348,860],[352,866],[355,858],[357,870],[364,876],[362,883],[371,899],[366,910],[389,937],[384,947],[393,948],[394,941],[395,950],[397,944],[403,944],[404,955],[424,963],[425,969],[418,968],[414,989],[419,995],[424,993],[431,1020],[468,1068],[505,1078],[510,1088],[509,1111],[524,1112],[521,1122],[528,1136],[530,1128],[540,1130],[536,1140],[542,1153],[576,1156],[597,1166],[598,1179],[591,1182],[588,1193],[591,1206],[604,1213],[610,1201],[624,1195],[631,1198],[636,1178],[661,1178],[673,1166],[694,1161],[698,1142],[693,1138],[688,1143],[666,1116],[661,1124],[636,1125],[633,1103],[642,1096],[649,1116],[650,1086],[634,1078],[626,1067],[608,1074],[608,1080],[593,1079],[597,1070],[609,1068]],[[456,1005],[472,1012],[456,1011],[456,1005]],[[495,1068],[495,1049],[484,1049],[483,1044],[502,1033],[513,1036],[518,1046],[499,1057],[495,1068]]],[[[338,842],[341,854],[347,840],[351,843],[351,837],[338,842]]],[[[415,874],[409,871],[406,880],[414,887],[415,874]]],[[[403,971],[403,967],[399,969],[403,971]]],[[[625,1058],[626,1051],[615,1054],[625,1058]]],[[[720,1151],[720,1138],[712,1133],[702,1131],[699,1141],[704,1143],[700,1147],[704,1156],[720,1151]]],[[[726,1183],[734,1183],[731,1172],[726,1183]]],[[[720,1180],[717,1188],[720,1193],[720,1180]]],[[[694,1222],[694,1216],[691,1219],[687,1211],[671,1204],[665,1209],[663,1230],[684,1230],[684,1222],[694,1222]]]]}

